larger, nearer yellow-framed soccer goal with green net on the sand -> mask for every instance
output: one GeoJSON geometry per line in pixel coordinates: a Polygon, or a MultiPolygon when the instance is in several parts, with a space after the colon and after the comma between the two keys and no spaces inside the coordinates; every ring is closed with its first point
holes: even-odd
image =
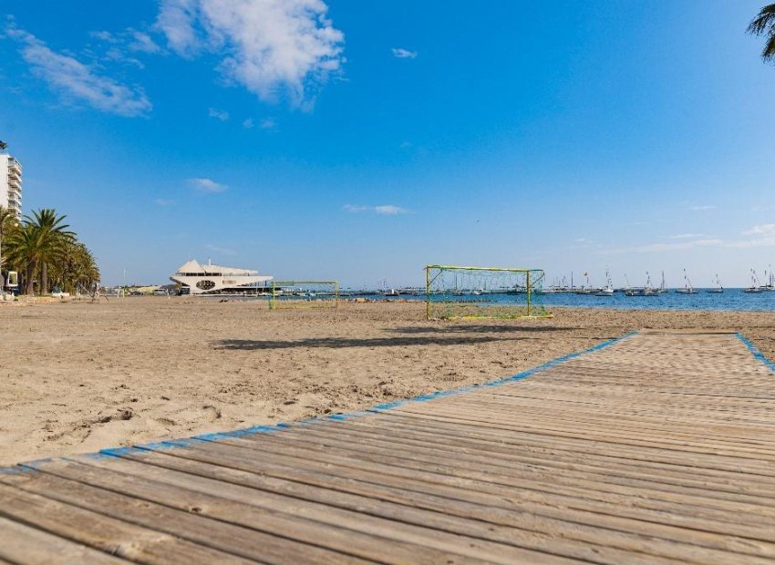
{"type": "Polygon", "coordinates": [[[454,318],[548,318],[542,303],[541,269],[457,267],[425,268],[425,305],[429,320],[454,318]]]}

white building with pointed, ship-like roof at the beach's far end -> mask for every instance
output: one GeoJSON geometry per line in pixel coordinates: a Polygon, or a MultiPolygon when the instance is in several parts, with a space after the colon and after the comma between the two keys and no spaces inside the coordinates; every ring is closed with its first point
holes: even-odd
{"type": "Polygon", "coordinates": [[[267,282],[273,277],[260,275],[258,271],[222,267],[208,262],[205,265],[191,259],[183,263],[170,277],[191,294],[236,294],[270,292],[267,282]]]}

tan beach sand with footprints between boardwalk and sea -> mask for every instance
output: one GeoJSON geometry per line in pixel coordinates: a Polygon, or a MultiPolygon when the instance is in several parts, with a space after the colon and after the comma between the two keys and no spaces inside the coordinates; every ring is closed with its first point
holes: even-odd
{"type": "Polygon", "coordinates": [[[3,305],[0,464],[358,410],[513,375],[639,328],[739,330],[775,357],[775,313],[555,312],[442,323],[421,303],[3,305]]]}

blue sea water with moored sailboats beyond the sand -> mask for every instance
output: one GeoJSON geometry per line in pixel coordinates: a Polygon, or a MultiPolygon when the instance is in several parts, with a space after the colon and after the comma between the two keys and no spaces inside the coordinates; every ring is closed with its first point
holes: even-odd
{"type": "MultiPolygon", "coordinates": [[[[615,308],[621,310],[737,310],[748,312],[775,312],[775,292],[744,293],[742,289],[724,289],[723,293],[706,293],[697,289],[697,294],[678,294],[675,291],[656,296],[625,296],[615,293],[613,296],[594,296],[594,294],[551,293],[533,295],[536,304],[569,306],[574,308],[615,308]]],[[[376,300],[425,300],[425,295],[385,297],[370,295],[376,300]]],[[[483,294],[481,296],[456,296],[461,302],[477,303],[524,303],[524,295],[483,294]]]]}

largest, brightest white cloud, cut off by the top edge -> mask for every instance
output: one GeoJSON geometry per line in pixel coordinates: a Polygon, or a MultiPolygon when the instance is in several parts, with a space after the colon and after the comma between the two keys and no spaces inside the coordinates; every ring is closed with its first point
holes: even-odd
{"type": "Polygon", "coordinates": [[[156,26],[181,56],[221,56],[222,75],[259,98],[308,105],[345,61],[327,11],[323,0],[161,0],[156,26]]]}

